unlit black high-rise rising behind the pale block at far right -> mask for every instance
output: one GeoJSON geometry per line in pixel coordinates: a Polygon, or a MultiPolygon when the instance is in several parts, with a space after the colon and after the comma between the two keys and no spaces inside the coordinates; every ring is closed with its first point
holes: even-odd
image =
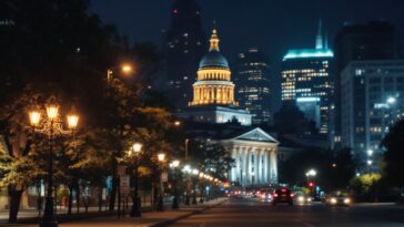
{"type": "Polygon", "coordinates": [[[386,60],[398,56],[396,29],[385,21],[345,24],[334,40],[335,72],[335,137],[341,142],[341,72],[351,61],[386,60]]]}

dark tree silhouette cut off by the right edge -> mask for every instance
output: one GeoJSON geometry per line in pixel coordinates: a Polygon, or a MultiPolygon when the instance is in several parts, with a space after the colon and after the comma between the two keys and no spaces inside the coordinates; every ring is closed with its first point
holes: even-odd
{"type": "Polygon", "coordinates": [[[384,177],[392,185],[404,188],[404,120],[393,125],[388,134],[383,138],[382,146],[385,147],[384,153],[384,177]]]}

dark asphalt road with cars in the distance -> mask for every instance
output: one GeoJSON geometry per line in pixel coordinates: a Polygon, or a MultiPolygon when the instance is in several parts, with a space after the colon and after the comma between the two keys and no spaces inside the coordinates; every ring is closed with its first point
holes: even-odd
{"type": "Polygon", "coordinates": [[[404,207],[361,204],[327,207],[323,204],[277,205],[232,198],[170,227],[404,227],[404,207]]]}

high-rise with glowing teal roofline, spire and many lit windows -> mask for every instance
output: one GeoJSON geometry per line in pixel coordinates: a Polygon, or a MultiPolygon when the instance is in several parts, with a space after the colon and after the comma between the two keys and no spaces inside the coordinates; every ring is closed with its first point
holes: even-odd
{"type": "MultiPolygon", "coordinates": [[[[315,49],[290,50],[282,61],[282,101],[319,100],[319,133],[322,135],[329,135],[332,127],[334,84],[330,65],[333,56],[333,51],[329,49],[326,39],[323,39],[320,22],[315,49]]],[[[305,115],[309,118],[315,116],[313,110],[310,110],[310,113],[307,112],[305,115]]],[[[316,122],[316,118],[310,120],[316,122]]]]}

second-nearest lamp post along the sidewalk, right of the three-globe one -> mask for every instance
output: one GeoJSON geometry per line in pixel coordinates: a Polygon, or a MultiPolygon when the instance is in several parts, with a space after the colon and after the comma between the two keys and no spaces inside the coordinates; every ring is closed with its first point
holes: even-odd
{"type": "Polygon", "coordinates": [[[128,152],[130,157],[134,158],[134,192],[133,192],[133,203],[132,203],[132,210],[131,217],[141,217],[142,214],[139,209],[139,154],[142,151],[142,144],[134,143],[132,149],[128,152]]]}

